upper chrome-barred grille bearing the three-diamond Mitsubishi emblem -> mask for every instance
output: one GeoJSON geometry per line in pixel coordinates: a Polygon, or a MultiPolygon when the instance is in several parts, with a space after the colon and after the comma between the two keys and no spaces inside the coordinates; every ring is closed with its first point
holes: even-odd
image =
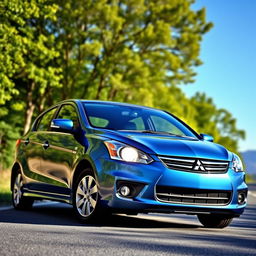
{"type": "Polygon", "coordinates": [[[225,173],[228,161],[202,158],[159,156],[160,160],[169,168],[185,172],[197,173],[225,173]]]}

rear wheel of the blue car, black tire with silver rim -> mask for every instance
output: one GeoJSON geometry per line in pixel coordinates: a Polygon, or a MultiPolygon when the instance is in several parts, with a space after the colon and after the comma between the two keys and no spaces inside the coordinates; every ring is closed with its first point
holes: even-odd
{"type": "Polygon", "coordinates": [[[17,210],[29,210],[32,208],[34,200],[23,195],[23,178],[20,170],[18,170],[14,177],[12,186],[12,204],[17,210]]]}

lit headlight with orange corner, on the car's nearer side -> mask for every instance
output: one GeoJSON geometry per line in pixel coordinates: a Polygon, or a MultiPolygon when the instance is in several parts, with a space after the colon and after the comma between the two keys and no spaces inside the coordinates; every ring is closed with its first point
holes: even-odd
{"type": "Polygon", "coordinates": [[[153,159],[144,152],[117,141],[104,141],[111,159],[149,164],[153,159]]]}

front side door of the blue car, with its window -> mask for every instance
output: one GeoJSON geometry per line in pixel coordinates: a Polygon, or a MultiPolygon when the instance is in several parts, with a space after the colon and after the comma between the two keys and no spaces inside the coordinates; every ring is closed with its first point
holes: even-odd
{"type": "MultiPolygon", "coordinates": [[[[62,105],[56,118],[70,119],[74,123],[74,130],[80,128],[75,106],[71,104],[62,105]]],[[[54,193],[70,194],[71,173],[77,157],[76,152],[82,148],[75,137],[75,133],[67,133],[56,128],[50,128],[45,134],[41,169],[51,179],[54,193]]]]}

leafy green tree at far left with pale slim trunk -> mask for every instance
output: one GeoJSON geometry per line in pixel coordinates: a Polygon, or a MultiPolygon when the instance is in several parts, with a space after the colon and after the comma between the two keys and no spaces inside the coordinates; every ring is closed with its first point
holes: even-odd
{"type": "Polygon", "coordinates": [[[3,0],[0,8],[0,104],[15,100],[28,131],[35,108],[42,111],[47,94],[60,87],[50,26],[58,6],[47,0],[3,0]],[[20,106],[18,106],[20,104],[20,106]]]}

